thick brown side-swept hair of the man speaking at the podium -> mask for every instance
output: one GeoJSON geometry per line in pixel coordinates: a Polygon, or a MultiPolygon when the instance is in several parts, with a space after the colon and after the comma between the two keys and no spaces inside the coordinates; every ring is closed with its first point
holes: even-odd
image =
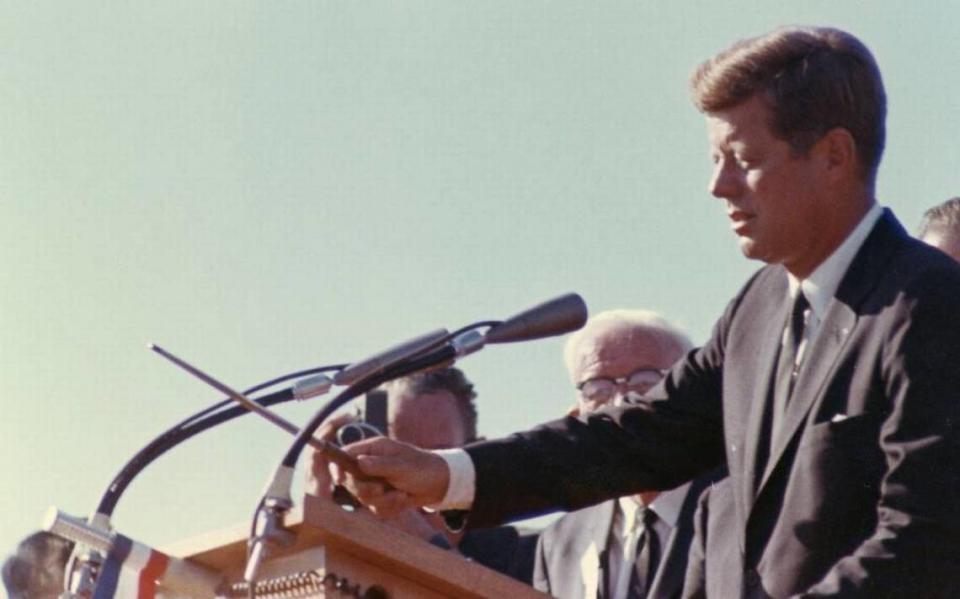
{"type": "Polygon", "coordinates": [[[846,129],[872,187],[886,138],[887,97],[873,55],[849,33],[789,27],[742,40],[701,64],[690,87],[694,104],[708,114],[762,94],[771,131],[801,155],[831,129],[846,129]]]}

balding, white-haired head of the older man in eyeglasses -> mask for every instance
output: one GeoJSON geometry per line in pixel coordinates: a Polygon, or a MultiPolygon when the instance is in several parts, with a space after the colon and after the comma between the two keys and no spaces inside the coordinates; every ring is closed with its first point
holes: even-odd
{"type": "MultiPolygon", "coordinates": [[[[689,337],[663,316],[648,310],[611,310],[601,312],[570,336],[564,358],[570,380],[575,387],[598,379],[620,379],[639,371],[650,371],[638,377],[641,387],[655,380],[657,371],[666,370],[692,349],[689,337]]],[[[620,392],[644,392],[647,388],[620,392]]],[[[582,412],[590,412],[613,398],[590,400],[578,394],[582,412]]]]}

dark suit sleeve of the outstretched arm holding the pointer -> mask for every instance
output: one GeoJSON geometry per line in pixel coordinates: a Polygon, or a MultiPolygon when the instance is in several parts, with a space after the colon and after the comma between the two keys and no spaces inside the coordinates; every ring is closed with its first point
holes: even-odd
{"type": "Polygon", "coordinates": [[[678,362],[642,405],[467,447],[476,469],[471,526],[672,489],[722,464],[723,349],[739,298],[710,342],[678,362]]]}

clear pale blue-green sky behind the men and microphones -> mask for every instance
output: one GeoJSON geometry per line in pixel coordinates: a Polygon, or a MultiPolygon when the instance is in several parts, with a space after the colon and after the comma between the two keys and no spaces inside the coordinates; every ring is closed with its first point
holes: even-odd
{"type": "MultiPolygon", "coordinates": [[[[151,341],[241,388],[567,291],[704,341],[758,265],[706,192],[687,78],[738,38],[825,24],[872,48],[878,198],[914,229],[960,194],[958,22],[952,2],[3,3],[0,551],[218,399],[151,341]]],[[[567,408],[561,346],[461,362],[483,433],[567,408]]],[[[162,545],[243,521],[289,442],[252,417],[209,432],[114,522],[162,545]]]]}

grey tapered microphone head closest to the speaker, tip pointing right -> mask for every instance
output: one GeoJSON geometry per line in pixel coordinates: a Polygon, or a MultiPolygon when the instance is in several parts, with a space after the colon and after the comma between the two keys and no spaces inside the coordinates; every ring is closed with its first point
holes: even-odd
{"type": "Polygon", "coordinates": [[[587,305],[576,293],[561,295],[508,318],[487,331],[486,343],[513,343],[575,331],[587,322],[587,305]]]}

